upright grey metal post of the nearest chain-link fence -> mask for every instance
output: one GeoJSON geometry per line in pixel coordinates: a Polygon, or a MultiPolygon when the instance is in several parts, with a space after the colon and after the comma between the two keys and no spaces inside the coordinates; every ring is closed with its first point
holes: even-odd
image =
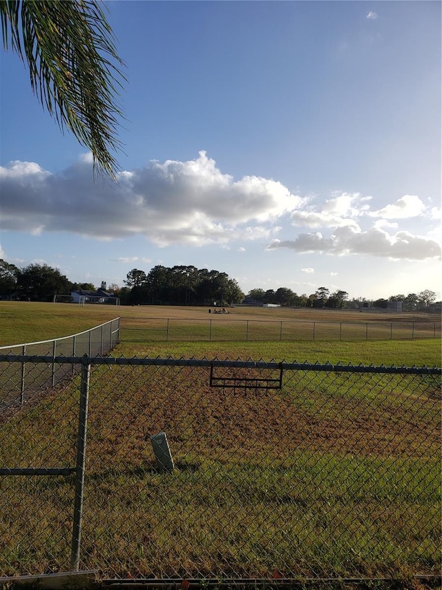
{"type": "Polygon", "coordinates": [[[89,378],[90,364],[82,362],[77,439],[77,472],[75,476],[75,503],[70,553],[70,566],[73,571],[79,571],[80,562],[81,519],[83,517],[84,473],[86,469],[86,434],[88,431],[89,378]]]}

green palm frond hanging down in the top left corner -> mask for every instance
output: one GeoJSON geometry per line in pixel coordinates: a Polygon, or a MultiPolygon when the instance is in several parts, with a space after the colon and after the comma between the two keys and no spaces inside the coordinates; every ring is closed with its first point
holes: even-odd
{"type": "Polygon", "coordinates": [[[93,153],[94,170],[115,179],[124,75],[98,0],[1,0],[3,46],[27,62],[42,106],[93,153]]]}

